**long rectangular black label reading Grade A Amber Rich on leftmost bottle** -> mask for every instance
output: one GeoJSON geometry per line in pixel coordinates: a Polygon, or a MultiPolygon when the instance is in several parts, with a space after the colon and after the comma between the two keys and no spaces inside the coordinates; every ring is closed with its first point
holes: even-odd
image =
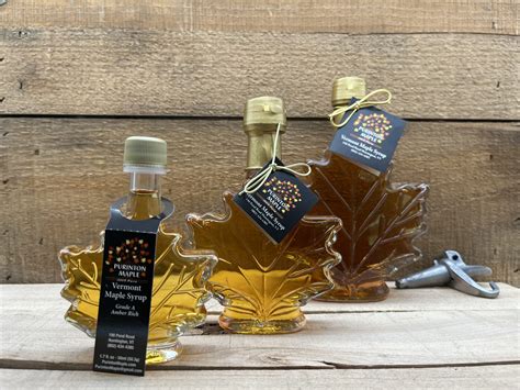
{"type": "MultiPolygon", "coordinates": [[[[172,204],[162,200],[168,214],[172,204]]],[[[93,370],[145,375],[157,232],[167,215],[128,220],[111,208],[104,235],[93,370]]]]}

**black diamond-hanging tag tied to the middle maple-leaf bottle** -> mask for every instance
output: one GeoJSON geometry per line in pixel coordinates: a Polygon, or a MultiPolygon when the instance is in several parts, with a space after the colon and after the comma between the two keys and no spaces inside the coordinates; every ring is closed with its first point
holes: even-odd
{"type": "MultiPolygon", "coordinates": [[[[278,158],[276,165],[283,166],[278,158]]],[[[280,243],[317,203],[318,197],[294,175],[275,170],[258,191],[236,194],[234,201],[268,236],[280,243]]]]}

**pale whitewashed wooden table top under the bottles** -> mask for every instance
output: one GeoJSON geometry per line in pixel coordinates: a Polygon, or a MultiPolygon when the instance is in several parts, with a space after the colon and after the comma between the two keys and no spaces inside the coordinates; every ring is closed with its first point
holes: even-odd
{"type": "Polygon", "coordinates": [[[231,335],[208,321],[178,360],[145,378],[92,372],[92,338],[64,321],[61,285],[1,285],[2,388],[518,388],[520,290],[496,300],[449,288],[392,290],[384,302],[310,302],[289,335],[231,335]]]}

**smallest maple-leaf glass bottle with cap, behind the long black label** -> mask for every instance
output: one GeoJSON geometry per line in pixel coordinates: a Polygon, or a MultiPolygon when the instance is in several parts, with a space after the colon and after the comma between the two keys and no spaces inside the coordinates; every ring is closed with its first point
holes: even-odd
{"type": "MultiPolygon", "coordinates": [[[[129,174],[129,193],[122,208],[129,220],[147,220],[161,212],[160,176],[166,174],[166,142],[129,137],[125,142],[124,170],[129,174]]],[[[66,281],[61,296],[71,302],[67,322],[95,337],[104,235],[94,246],[67,246],[59,253],[66,281]]],[[[147,364],[174,359],[181,352],[178,337],[202,324],[205,282],[216,263],[208,252],[184,249],[182,236],[159,225],[152,282],[147,364]]],[[[144,248],[146,249],[146,248],[144,248]]]]}

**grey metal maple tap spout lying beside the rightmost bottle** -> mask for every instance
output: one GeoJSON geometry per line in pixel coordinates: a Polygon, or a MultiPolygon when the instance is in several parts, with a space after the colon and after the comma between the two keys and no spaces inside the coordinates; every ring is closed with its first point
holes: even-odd
{"type": "Polygon", "coordinates": [[[455,290],[482,298],[497,298],[500,289],[494,281],[489,282],[490,290],[478,285],[472,277],[490,276],[489,267],[468,266],[455,250],[445,250],[440,259],[433,260],[433,266],[407,278],[396,280],[398,289],[417,287],[450,286],[455,290]]]}

